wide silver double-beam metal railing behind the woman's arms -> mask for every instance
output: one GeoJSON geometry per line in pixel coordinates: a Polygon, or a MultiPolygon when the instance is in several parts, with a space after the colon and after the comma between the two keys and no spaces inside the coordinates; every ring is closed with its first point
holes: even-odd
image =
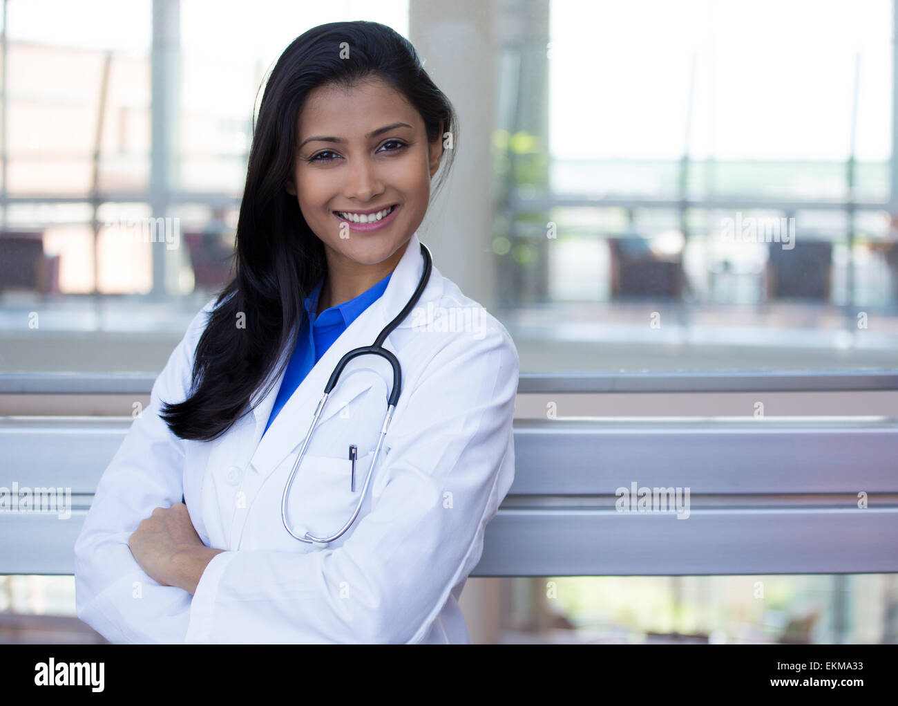
{"type": "MultiPolygon", "coordinates": [[[[72,573],[130,423],[0,418],[0,487],[72,494],[67,518],[0,512],[0,574],[72,573]]],[[[896,458],[895,420],[515,420],[515,480],[472,576],[895,572],[896,458]],[[666,502],[640,509],[644,491],[666,502]]]]}

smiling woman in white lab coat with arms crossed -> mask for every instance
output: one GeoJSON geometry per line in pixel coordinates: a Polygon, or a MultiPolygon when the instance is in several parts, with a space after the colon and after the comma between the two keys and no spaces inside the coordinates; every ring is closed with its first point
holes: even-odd
{"type": "Polygon", "coordinates": [[[383,342],[401,366],[386,433],[382,357],[350,360],[319,406],[343,355],[374,344],[422,282],[417,231],[455,126],[381,24],[321,25],[278,59],[234,280],[155,381],[75,543],[77,613],[104,637],[470,642],[458,600],[515,472],[505,328],[433,266],[383,342]],[[360,497],[338,539],[296,539],[337,532],[360,497]]]}

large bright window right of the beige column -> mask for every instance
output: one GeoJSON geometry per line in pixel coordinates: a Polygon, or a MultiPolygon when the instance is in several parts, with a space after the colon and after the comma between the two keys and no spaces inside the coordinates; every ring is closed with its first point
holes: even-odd
{"type": "Polygon", "coordinates": [[[546,51],[509,30],[503,66],[530,70],[506,68],[499,86],[500,134],[515,139],[497,141],[510,194],[497,252],[522,370],[893,368],[892,13],[885,0],[555,2],[546,51]],[[544,125],[516,107],[541,99],[544,125]],[[638,333],[652,311],[721,353],[670,355],[638,333]],[[562,330],[574,354],[535,353],[562,330]]]}

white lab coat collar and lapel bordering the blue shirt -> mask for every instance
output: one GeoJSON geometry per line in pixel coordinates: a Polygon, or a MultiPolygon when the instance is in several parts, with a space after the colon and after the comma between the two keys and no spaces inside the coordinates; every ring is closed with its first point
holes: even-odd
{"type": "MultiPolygon", "coordinates": [[[[260,400],[253,409],[255,437],[252,446],[257,448],[252,457],[252,466],[260,475],[269,475],[286,456],[295,451],[303,442],[305,434],[312,424],[315,408],[318,406],[324,388],[330,379],[330,374],[337,367],[340,358],[354,348],[374,344],[383,327],[398,316],[408,303],[418,286],[423,270],[424,258],[421,255],[421,245],[416,232],[409,239],[405,253],[393,270],[390,282],[387,283],[387,288],[381,298],[366,308],[324,352],[321,359],[315,363],[313,369],[309,371],[293,395],[286,401],[263,437],[262,432],[268,423],[283,378],[283,373],[281,373],[265,398],[260,400]]],[[[443,278],[434,266],[430,274],[430,281],[427,282],[427,287],[421,293],[416,307],[426,306],[427,301],[438,299],[442,291],[443,278]]],[[[397,328],[414,326],[415,318],[414,314],[410,313],[397,328]]],[[[391,347],[389,342],[388,336],[385,342],[385,347],[388,349],[391,347]]],[[[290,353],[292,352],[283,352],[278,363],[283,362],[283,359],[290,353]]],[[[365,390],[370,389],[372,385],[372,380],[365,375],[347,376],[344,373],[331,392],[318,424],[323,424],[331,416],[337,414],[342,407],[348,405],[365,390]]],[[[257,393],[256,399],[263,390],[257,393]]],[[[376,423],[380,423],[380,420],[377,420],[376,423]]]]}

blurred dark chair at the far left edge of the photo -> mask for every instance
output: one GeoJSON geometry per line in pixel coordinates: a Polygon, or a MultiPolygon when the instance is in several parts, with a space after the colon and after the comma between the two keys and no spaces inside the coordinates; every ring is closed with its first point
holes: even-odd
{"type": "Polygon", "coordinates": [[[44,253],[44,234],[0,230],[0,291],[59,293],[59,255],[44,253]]]}

